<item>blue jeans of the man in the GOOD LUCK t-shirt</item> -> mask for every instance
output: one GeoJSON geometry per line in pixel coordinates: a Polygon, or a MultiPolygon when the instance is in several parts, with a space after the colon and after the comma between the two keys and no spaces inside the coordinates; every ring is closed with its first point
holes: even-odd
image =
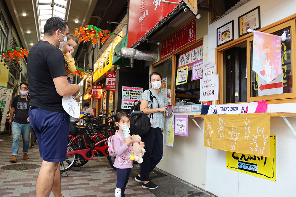
{"type": "Polygon", "coordinates": [[[28,153],[29,143],[30,143],[30,133],[32,126],[30,123],[28,124],[20,124],[16,122],[12,122],[12,156],[17,156],[18,146],[20,142],[20,136],[22,135],[22,152],[28,153]]]}

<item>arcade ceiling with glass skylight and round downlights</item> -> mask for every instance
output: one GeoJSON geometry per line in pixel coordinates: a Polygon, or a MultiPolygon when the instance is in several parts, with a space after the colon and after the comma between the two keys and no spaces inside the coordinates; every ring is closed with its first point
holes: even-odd
{"type": "Polygon", "coordinates": [[[58,16],[69,24],[69,32],[89,22],[98,0],[6,0],[24,48],[41,40],[46,17],[58,16]],[[51,4],[53,7],[51,7],[51,4]],[[51,12],[51,14],[50,14],[51,12]],[[24,15],[25,14],[25,15],[24,15]],[[78,23],[75,23],[77,20],[78,23]]]}

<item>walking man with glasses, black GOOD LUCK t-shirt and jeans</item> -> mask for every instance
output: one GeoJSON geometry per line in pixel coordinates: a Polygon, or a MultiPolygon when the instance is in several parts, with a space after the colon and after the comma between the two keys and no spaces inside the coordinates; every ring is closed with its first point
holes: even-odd
{"type": "Polygon", "coordinates": [[[28,149],[30,142],[30,132],[32,126],[29,121],[29,101],[27,101],[28,84],[20,84],[20,95],[13,98],[11,102],[11,111],[9,123],[12,125],[12,159],[11,163],[17,162],[17,152],[19,149],[20,136],[22,136],[22,152],[24,153],[23,159],[29,159],[28,149]],[[13,115],[15,118],[12,120],[13,115]]]}

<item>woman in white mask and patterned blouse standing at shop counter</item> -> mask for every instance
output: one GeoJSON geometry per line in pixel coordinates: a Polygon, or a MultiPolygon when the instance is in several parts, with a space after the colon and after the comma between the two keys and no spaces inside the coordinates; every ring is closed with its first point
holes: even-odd
{"type": "Polygon", "coordinates": [[[150,181],[149,173],[152,172],[163,157],[163,134],[161,129],[164,129],[165,116],[168,116],[166,110],[168,102],[166,95],[160,93],[162,76],[157,72],[153,72],[150,74],[149,79],[152,87],[145,90],[141,95],[140,110],[145,114],[153,114],[153,119],[150,131],[142,137],[146,152],[143,156],[143,163],[141,163],[141,172],[136,176],[135,180],[143,182],[143,188],[156,189],[158,185],[150,181]],[[153,102],[151,102],[150,93],[152,93],[153,102]],[[151,103],[153,103],[152,107],[151,103]]]}

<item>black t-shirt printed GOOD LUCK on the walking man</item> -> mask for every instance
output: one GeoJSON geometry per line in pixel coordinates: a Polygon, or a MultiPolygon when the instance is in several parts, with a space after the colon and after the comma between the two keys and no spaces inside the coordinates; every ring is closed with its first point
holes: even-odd
{"type": "Polygon", "coordinates": [[[21,98],[17,95],[11,102],[11,107],[15,108],[14,122],[20,124],[28,124],[27,118],[29,117],[29,102],[27,98],[21,98]]]}

